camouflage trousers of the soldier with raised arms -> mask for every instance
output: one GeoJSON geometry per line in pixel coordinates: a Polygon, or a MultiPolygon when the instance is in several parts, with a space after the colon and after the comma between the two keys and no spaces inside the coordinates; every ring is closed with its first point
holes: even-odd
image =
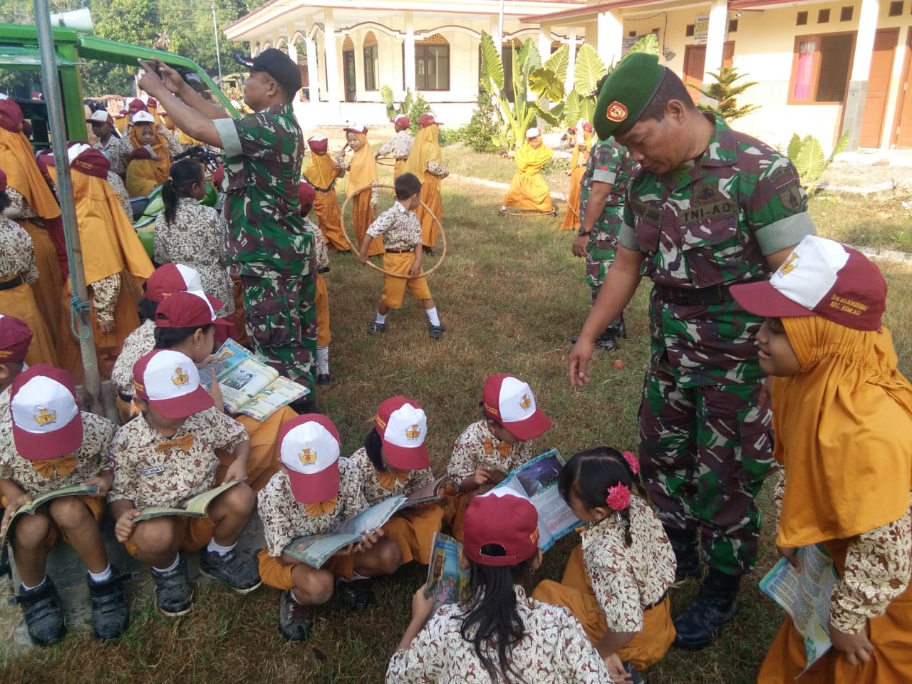
{"type": "Polygon", "coordinates": [[[314,389],[316,281],[311,274],[241,275],[244,323],[254,352],[282,375],[314,389]]]}

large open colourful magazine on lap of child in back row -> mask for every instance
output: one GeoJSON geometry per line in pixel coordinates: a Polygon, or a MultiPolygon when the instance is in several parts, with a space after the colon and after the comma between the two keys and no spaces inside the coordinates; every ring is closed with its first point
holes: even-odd
{"type": "Polygon", "coordinates": [[[215,353],[215,358],[200,369],[200,380],[207,388],[212,382],[210,371],[222,388],[225,409],[244,413],[255,420],[265,420],[292,401],[306,397],[304,385],[282,378],[278,371],[252,354],[233,339],[215,353]]]}

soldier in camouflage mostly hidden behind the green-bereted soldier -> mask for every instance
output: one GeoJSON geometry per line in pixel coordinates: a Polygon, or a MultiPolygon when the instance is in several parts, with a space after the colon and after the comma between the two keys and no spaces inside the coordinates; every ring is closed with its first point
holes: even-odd
{"type": "MultiPolygon", "coordinates": [[[[593,304],[605,282],[608,266],[615,259],[617,231],[624,221],[627,181],[637,171],[636,166],[627,150],[614,140],[598,140],[589,151],[586,172],[580,182],[581,218],[573,254],[586,258],[586,285],[592,291],[593,304]]],[[[616,349],[618,336],[627,338],[623,313],[596,337],[596,347],[616,349]]]]}

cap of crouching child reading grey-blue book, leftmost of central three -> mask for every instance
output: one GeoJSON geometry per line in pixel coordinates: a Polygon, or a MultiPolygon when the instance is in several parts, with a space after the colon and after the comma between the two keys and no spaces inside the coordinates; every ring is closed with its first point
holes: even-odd
{"type": "Polygon", "coordinates": [[[319,503],[339,492],[339,433],[318,413],[288,420],[279,430],[279,458],[291,492],[301,503],[319,503]]]}

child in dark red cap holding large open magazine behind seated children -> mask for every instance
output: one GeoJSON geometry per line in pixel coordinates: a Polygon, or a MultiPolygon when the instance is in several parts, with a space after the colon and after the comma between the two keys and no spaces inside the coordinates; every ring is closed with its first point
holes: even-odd
{"type": "MultiPolygon", "coordinates": [[[[178,292],[159,305],[155,314],[155,346],[159,349],[179,351],[197,366],[212,356],[212,343],[216,326],[224,325],[224,318],[216,317],[208,295],[201,292],[178,292]]],[[[205,371],[203,371],[205,372],[205,371]]],[[[210,392],[217,410],[223,410],[222,389],[210,376],[210,392]]],[[[282,425],[295,418],[295,411],[284,406],[264,420],[250,416],[235,417],[250,439],[247,459],[247,485],[258,492],[279,469],[278,434],[282,425]]],[[[215,479],[222,482],[231,468],[233,454],[216,451],[222,465],[215,479]]]]}

